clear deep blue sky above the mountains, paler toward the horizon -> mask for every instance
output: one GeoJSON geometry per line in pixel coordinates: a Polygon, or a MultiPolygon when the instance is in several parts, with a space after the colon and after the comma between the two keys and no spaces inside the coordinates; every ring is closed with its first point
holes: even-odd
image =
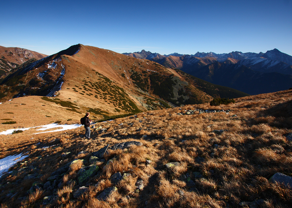
{"type": "Polygon", "coordinates": [[[1,0],[0,45],[47,55],[81,43],[113,50],[292,55],[292,1],[1,0]]]}

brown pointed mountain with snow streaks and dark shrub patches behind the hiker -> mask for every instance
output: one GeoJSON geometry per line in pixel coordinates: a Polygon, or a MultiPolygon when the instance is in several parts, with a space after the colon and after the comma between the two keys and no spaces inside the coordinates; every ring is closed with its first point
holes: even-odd
{"type": "MultiPolygon", "coordinates": [[[[0,98],[55,95],[36,99],[58,103],[77,118],[88,110],[105,117],[209,102],[212,96],[201,84],[206,88],[206,83],[153,61],[79,44],[8,75],[0,85],[0,98]]],[[[226,94],[242,96],[235,91],[226,94]]]]}

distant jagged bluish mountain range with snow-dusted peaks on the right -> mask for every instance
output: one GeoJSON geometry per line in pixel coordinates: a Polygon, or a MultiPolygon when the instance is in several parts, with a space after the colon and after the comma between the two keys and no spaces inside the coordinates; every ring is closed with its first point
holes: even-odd
{"type": "Polygon", "coordinates": [[[180,69],[213,84],[231,87],[248,94],[260,94],[292,87],[292,56],[277,49],[265,53],[213,52],[193,55],[160,55],[142,50],[125,55],[155,61],[180,69]]]}

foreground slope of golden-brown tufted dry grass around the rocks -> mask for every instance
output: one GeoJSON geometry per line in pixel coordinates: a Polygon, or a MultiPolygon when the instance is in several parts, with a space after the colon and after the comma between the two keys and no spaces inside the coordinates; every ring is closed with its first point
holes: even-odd
{"type": "Polygon", "coordinates": [[[27,162],[17,163],[1,177],[1,206],[289,207],[292,191],[269,179],[277,172],[292,176],[292,143],[286,137],[292,133],[291,99],[292,91],[286,90],[237,98],[228,105],[186,105],[181,110],[138,113],[96,124],[106,131],[92,128],[91,140],[83,138],[83,127],[1,136],[0,158],[29,155],[27,162]],[[178,115],[195,109],[217,112],[178,115]],[[221,109],[230,112],[218,112],[221,109]],[[91,162],[99,166],[98,172],[79,185],[79,170],[90,168],[93,152],[130,141],[142,146],[108,150],[105,160],[91,162]],[[78,154],[81,151],[85,152],[78,154]],[[82,161],[66,172],[66,164],[74,159],[82,161]],[[167,168],[170,162],[178,166],[167,168]],[[53,175],[60,168],[65,168],[64,174],[53,175]],[[119,182],[112,177],[118,172],[127,174],[119,182]],[[143,187],[138,186],[141,183],[143,187]],[[81,186],[88,189],[75,198],[81,186]],[[117,189],[98,200],[109,187],[117,189]],[[51,201],[43,205],[46,197],[51,201]]]}

